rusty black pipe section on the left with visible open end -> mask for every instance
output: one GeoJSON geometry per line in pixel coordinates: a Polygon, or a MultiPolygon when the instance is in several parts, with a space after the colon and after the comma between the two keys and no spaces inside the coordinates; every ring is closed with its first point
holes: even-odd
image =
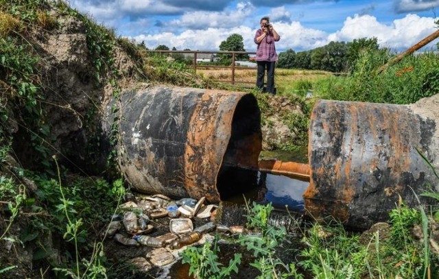
{"type": "Polygon", "coordinates": [[[217,189],[218,175],[240,165],[257,169],[261,113],[252,94],[131,90],[121,95],[119,114],[119,165],[137,191],[219,202],[244,189],[217,189]]]}

